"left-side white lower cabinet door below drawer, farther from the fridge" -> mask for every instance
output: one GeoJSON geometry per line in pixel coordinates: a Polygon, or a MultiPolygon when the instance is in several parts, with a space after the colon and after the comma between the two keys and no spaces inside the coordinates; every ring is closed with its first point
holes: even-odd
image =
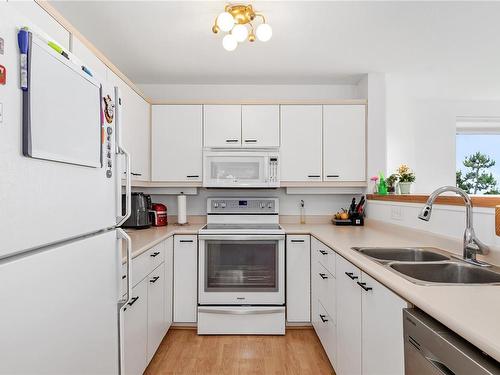
{"type": "Polygon", "coordinates": [[[148,284],[148,362],[165,335],[165,264],[146,278],[148,284]]]}

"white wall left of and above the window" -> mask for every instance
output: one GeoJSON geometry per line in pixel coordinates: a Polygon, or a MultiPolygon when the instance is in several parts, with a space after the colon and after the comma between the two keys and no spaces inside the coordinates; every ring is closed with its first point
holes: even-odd
{"type": "Polygon", "coordinates": [[[392,172],[402,163],[413,168],[414,193],[455,185],[458,116],[500,116],[500,82],[495,96],[488,88],[481,95],[478,85],[469,93],[460,85],[443,87],[449,80],[387,75],[387,168],[392,172]]]}

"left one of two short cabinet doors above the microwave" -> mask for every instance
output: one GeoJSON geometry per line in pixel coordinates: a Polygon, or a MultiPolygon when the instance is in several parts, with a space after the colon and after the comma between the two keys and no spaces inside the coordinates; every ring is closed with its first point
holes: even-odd
{"type": "Polygon", "coordinates": [[[241,105],[205,105],[205,147],[241,147],[241,105]]]}

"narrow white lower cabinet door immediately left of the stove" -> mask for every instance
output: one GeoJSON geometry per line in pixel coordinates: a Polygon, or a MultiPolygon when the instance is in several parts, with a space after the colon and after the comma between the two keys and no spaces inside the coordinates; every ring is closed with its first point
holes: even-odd
{"type": "Polygon", "coordinates": [[[174,322],[196,323],[198,237],[174,236],[174,322]]]}

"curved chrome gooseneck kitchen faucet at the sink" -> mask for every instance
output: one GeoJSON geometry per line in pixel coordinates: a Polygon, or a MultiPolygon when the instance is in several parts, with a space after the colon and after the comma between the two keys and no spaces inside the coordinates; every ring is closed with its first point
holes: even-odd
{"type": "Polygon", "coordinates": [[[472,263],[477,266],[489,266],[489,264],[481,262],[476,259],[477,254],[486,255],[490,252],[488,246],[482,243],[474,232],[474,227],[472,225],[472,200],[462,189],[455,186],[443,186],[436,189],[427,199],[425,206],[420,211],[418,218],[424,221],[429,221],[431,218],[432,205],[436,198],[446,191],[452,191],[460,195],[465,201],[465,233],[464,233],[464,247],[463,247],[463,259],[468,263],[472,263]]]}

